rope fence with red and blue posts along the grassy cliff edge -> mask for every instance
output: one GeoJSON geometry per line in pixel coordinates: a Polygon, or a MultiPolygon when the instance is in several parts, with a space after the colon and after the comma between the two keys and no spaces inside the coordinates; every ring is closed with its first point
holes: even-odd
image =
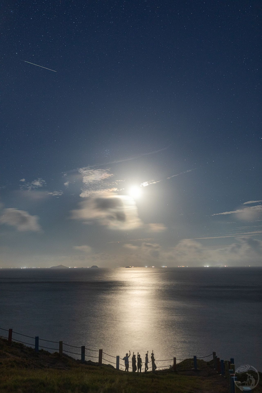
{"type": "MultiPolygon", "coordinates": [[[[85,345],[82,345],[81,347],[76,346],[76,345],[72,345],[72,344],[66,344],[63,343],[63,341],[51,341],[51,340],[46,340],[44,338],[39,338],[39,336],[28,336],[26,334],[22,334],[22,333],[18,333],[18,332],[14,332],[13,329],[3,329],[2,327],[0,327],[1,331],[4,332],[8,332],[8,337],[6,336],[2,336],[0,335],[0,338],[5,338],[7,339],[7,343],[9,345],[12,344],[12,341],[18,342],[18,343],[22,343],[25,345],[29,345],[30,347],[35,347],[35,352],[39,352],[39,348],[43,348],[43,349],[51,349],[52,351],[56,351],[59,353],[59,357],[62,357],[63,354],[74,354],[77,356],[81,357],[81,363],[85,363],[86,359],[96,359],[96,363],[98,363],[98,365],[102,365],[102,361],[104,360],[104,362],[113,364],[116,368],[116,370],[120,370],[120,366],[125,368],[125,364],[120,363],[120,360],[122,360],[122,358],[120,358],[120,356],[114,356],[111,355],[109,353],[103,352],[103,349],[90,349],[90,348],[86,348],[85,345]],[[28,342],[24,342],[21,340],[17,340],[17,338],[13,338],[12,334],[18,334],[20,336],[23,337],[27,337],[27,338],[31,338],[32,340],[34,340],[34,343],[28,343],[28,342]],[[54,344],[59,344],[59,348],[52,348],[52,347],[44,347],[43,345],[39,345],[39,341],[44,341],[47,343],[54,343],[54,344]],[[81,349],[81,353],[76,353],[73,351],[67,351],[66,349],[63,349],[63,346],[66,347],[70,347],[70,348],[77,348],[77,349],[81,349]],[[91,356],[89,354],[85,354],[85,351],[91,351],[91,352],[96,352],[98,353],[98,356],[91,356]],[[103,356],[109,356],[110,358],[114,358],[116,360],[111,361],[108,360],[106,358],[104,358],[103,356]]],[[[130,356],[130,355],[129,355],[130,356]]],[[[216,356],[216,352],[210,353],[209,355],[206,356],[194,356],[193,360],[194,360],[194,368],[192,370],[197,371],[197,359],[205,359],[205,358],[209,358],[210,356],[213,357],[213,364],[214,364],[214,370],[216,370],[217,373],[219,373],[221,376],[225,376],[227,378],[229,378],[229,382],[230,382],[230,386],[234,386],[234,381],[236,380],[236,375],[235,375],[235,365],[234,365],[234,358],[231,358],[230,361],[229,360],[223,360],[220,359],[218,356],[216,356]],[[234,379],[234,380],[233,380],[234,379]],[[233,382],[232,382],[233,381],[233,382]]],[[[190,358],[192,360],[192,358],[190,358]]],[[[113,360],[113,359],[112,359],[113,360]]],[[[154,359],[153,359],[154,360],[154,359]]],[[[178,359],[176,357],[173,357],[172,359],[160,359],[160,360],[154,360],[155,365],[157,367],[157,369],[173,369],[174,372],[177,371],[177,361],[181,362],[185,359],[178,359]],[[159,362],[172,362],[171,364],[166,364],[166,365],[157,365],[159,364],[159,362]]],[[[151,364],[152,361],[149,361],[148,364],[151,364]]],[[[145,363],[143,363],[145,364],[145,363]]],[[[132,367],[132,363],[130,362],[130,367],[128,367],[130,369],[130,371],[133,371],[133,367],[132,367]]],[[[152,365],[152,372],[155,372],[155,368],[152,365]]]]}

